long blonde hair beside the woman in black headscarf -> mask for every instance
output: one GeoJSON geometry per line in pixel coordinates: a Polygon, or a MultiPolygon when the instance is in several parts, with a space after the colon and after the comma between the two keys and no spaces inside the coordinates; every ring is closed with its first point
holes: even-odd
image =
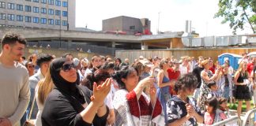
{"type": "Polygon", "coordinates": [[[50,94],[54,87],[51,79],[50,69],[48,69],[46,76],[43,80],[38,83],[38,101],[44,104],[45,99],[50,94]]]}

